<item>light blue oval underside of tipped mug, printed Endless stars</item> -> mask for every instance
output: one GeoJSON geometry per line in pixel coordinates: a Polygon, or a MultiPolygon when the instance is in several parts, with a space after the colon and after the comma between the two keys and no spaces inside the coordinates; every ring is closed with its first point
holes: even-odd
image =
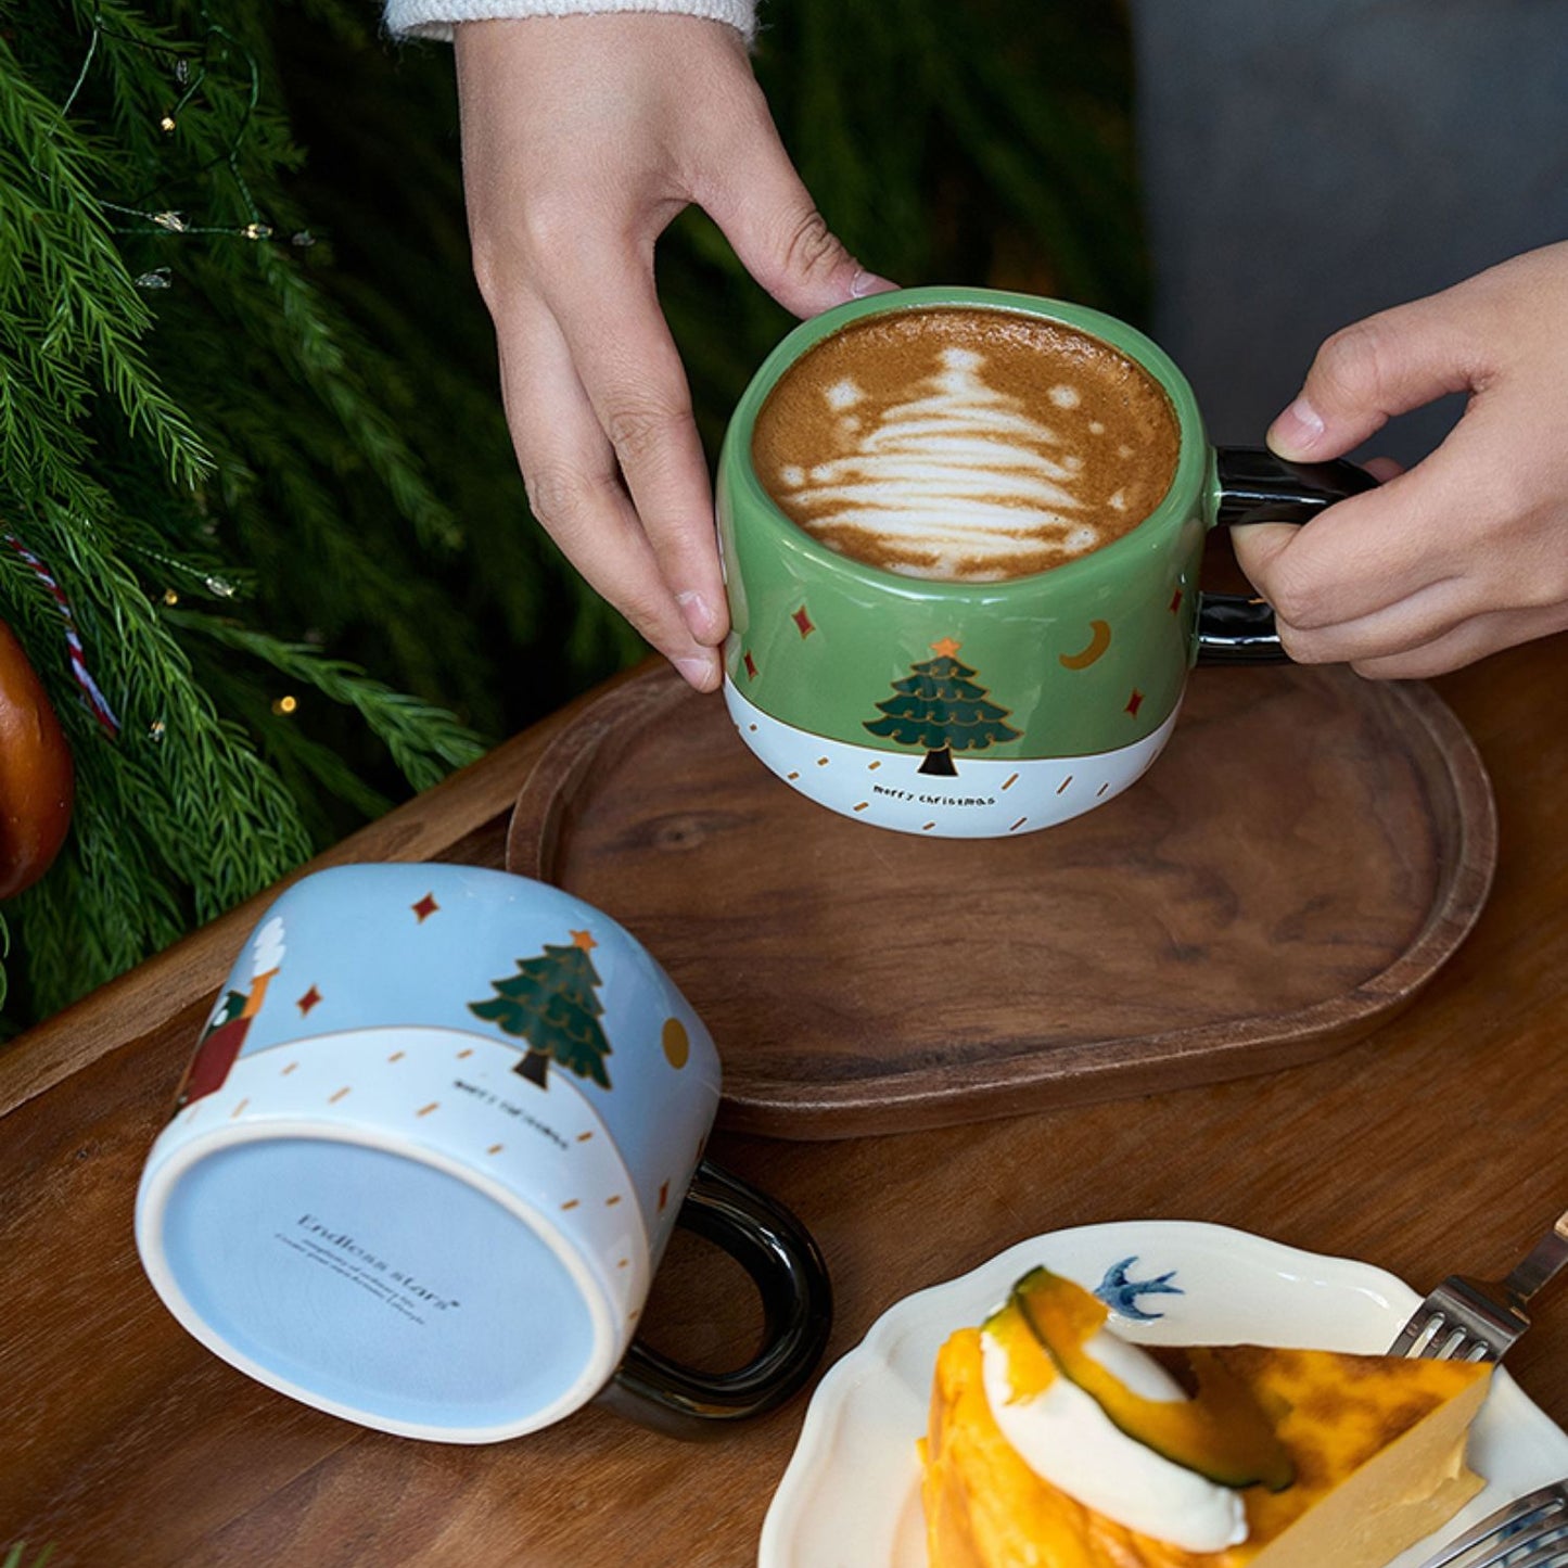
{"type": "Polygon", "coordinates": [[[310,1129],[171,1159],[136,1240],[207,1348],[318,1410],[489,1443],[585,1403],[615,1352],[558,1239],[439,1160],[310,1129]]]}

